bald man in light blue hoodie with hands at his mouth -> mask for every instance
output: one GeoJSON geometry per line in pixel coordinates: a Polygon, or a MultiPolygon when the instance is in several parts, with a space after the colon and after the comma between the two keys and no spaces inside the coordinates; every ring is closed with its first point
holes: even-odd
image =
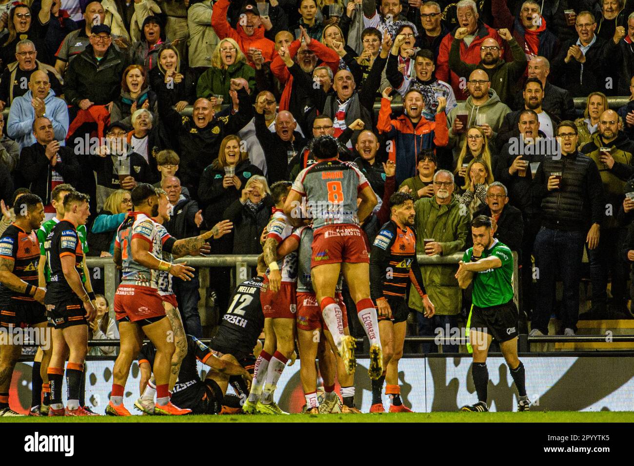
{"type": "Polygon", "coordinates": [[[13,99],[9,110],[6,132],[16,141],[20,150],[35,143],[33,122],[36,117],[47,117],[53,124],[56,141],[64,145],[68,131],[68,107],[55,97],[48,72],[34,71],[29,79],[29,91],[13,99]]]}

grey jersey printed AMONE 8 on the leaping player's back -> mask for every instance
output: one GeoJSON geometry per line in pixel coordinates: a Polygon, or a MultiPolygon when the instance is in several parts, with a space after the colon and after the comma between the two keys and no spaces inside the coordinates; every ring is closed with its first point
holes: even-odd
{"type": "Polygon", "coordinates": [[[368,180],[349,162],[327,160],[302,170],[292,190],[303,196],[291,216],[313,219],[313,229],[330,224],[359,224],[357,198],[368,180]]]}

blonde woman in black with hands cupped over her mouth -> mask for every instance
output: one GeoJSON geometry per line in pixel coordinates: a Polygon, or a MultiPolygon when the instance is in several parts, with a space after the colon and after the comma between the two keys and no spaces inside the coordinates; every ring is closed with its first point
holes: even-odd
{"type": "Polygon", "coordinates": [[[260,254],[260,233],[271,217],[275,203],[266,178],[249,178],[239,199],[224,209],[224,219],[233,223],[233,254],[260,254]]]}

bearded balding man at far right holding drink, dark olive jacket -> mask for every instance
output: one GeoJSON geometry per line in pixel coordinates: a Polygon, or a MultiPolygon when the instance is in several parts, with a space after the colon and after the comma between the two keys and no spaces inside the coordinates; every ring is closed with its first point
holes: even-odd
{"type": "MultiPolygon", "coordinates": [[[[621,205],[625,198],[624,181],[634,175],[631,165],[634,159],[634,142],[619,131],[619,115],[614,110],[605,110],[598,120],[598,131],[592,135],[589,143],[583,145],[581,153],[587,155],[601,175],[606,205],[621,205]],[[609,152],[600,150],[608,148],[609,152]]],[[[605,210],[601,224],[601,236],[598,247],[588,249],[590,261],[590,280],[592,280],[592,311],[597,318],[611,315],[628,316],[626,307],[627,280],[630,266],[621,260],[620,245],[626,228],[619,226],[616,216],[605,210]],[[612,276],[610,291],[612,302],[607,309],[607,277],[612,276]]]]}

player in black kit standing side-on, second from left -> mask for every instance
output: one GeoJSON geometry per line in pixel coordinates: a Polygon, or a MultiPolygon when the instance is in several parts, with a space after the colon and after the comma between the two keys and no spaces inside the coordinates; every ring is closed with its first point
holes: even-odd
{"type": "Polygon", "coordinates": [[[84,252],[77,226],[86,224],[90,215],[89,197],[72,191],[63,200],[64,217],[46,237],[44,251],[51,268],[51,278],[44,297],[47,317],[53,326],[53,351],[48,366],[51,387],[49,416],[92,415],[79,405],[79,391],[84,372],[88,342],[88,322],[94,320],[91,296],[81,280],[84,252]],[[68,348],[66,380],[67,410],[61,401],[63,365],[68,348]]]}

